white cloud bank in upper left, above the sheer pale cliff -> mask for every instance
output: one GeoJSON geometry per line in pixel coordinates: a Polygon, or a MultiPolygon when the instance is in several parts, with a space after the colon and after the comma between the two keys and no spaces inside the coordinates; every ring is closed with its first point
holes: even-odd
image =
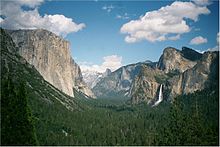
{"type": "Polygon", "coordinates": [[[66,36],[69,33],[77,32],[85,27],[84,23],[77,24],[72,18],[64,15],[44,15],[38,12],[38,6],[43,0],[22,0],[22,1],[4,1],[0,15],[4,19],[0,25],[6,29],[46,29],[57,35],[66,36]],[[26,6],[29,10],[23,10],[26,6]]]}

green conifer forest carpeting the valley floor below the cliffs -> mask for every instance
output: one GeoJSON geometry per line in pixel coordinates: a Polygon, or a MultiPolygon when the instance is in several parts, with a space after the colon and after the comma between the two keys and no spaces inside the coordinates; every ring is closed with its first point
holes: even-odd
{"type": "Polygon", "coordinates": [[[218,145],[218,94],[210,93],[179,96],[154,108],[84,98],[83,111],[43,107],[38,140],[40,145],[218,145]]]}

